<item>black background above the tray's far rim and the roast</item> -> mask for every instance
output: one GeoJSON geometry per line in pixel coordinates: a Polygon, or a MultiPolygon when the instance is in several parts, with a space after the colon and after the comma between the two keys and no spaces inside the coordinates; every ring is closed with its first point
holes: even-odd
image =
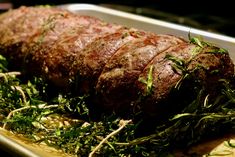
{"type": "Polygon", "coordinates": [[[235,37],[232,0],[0,0],[21,5],[91,3],[235,37]]]}

